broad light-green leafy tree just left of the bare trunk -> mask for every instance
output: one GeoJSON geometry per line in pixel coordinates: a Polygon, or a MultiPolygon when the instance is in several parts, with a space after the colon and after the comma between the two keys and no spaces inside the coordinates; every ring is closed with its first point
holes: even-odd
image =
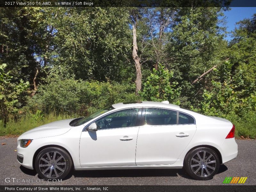
{"type": "Polygon", "coordinates": [[[53,21],[51,72],[84,80],[121,79],[131,42],[128,19],[124,8],[66,8],[53,21]]]}

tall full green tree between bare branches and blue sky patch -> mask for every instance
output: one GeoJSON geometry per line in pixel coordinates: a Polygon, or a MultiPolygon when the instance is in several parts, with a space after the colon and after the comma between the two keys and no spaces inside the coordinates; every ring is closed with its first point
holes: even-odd
{"type": "MultiPolygon", "coordinates": [[[[196,84],[192,82],[228,58],[223,31],[218,27],[220,15],[220,7],[183,7],[177,13],[172,32],[168,34],[166,64],[173,69],[175,80],[182,87],[181,97],[187,107],[189,102],[200,105],[203,90],[211,87],[207,79],[196,84]]],[[[208,76],[213,75],[209,73],[208,76]]]]}

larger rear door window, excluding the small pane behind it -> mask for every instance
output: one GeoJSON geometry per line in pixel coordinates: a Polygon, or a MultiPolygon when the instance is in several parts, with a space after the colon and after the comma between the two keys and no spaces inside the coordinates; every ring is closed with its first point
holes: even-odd
{"type": "Polygon", "coordinates": [[[146,108],[145,123],[148,125],[175,125],[177,124],[177,112],[166,109],[146,108]]]}

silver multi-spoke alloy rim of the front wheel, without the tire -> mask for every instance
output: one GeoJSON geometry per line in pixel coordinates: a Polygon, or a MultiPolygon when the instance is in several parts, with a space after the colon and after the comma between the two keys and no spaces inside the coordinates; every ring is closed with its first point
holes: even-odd
{"type": "Polygon", "coordinates": [[[59,152],[47,152],[39,160],[39,169],[45,177],[57,178],[66,169],[65,158],[59,152]]]}

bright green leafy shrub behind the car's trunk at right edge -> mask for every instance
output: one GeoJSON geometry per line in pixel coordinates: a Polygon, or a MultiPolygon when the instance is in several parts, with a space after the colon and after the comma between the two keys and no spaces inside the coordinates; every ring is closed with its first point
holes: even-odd
{"type": "Polygon", "coordinates": [[[244,84],[243,71],[236,70],[231,75],[232,65],[229,61],[214,70],[219,81],[212,80],[210,90],[204,90],[200,110],[205,115],[223,116],[234,112],[239,117],[248,111],[256,111],[255,84],[244,84]]]}

